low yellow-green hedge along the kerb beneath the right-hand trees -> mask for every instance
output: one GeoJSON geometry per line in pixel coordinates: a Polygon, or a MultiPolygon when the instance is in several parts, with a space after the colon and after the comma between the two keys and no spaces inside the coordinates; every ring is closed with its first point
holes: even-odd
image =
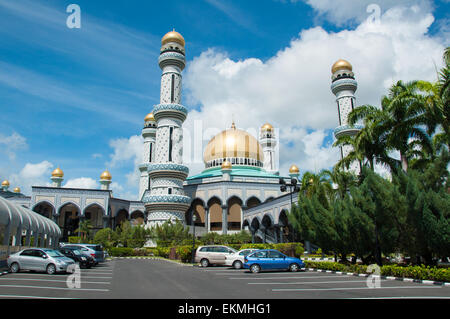
{"type": "MultiPolygon", "coordinates": [[[[305,261],[306,268],[317,268],[324,270],[352,272],[358,274],[367,273],[367,265],[345,265],[335,262],[312,262],[305,261]]],[[[398,266],[384,265],[380,267],[382,276],[403,277],[419,280],[432,280],[450,282],[450,269],[430,266],[398,266]]]]}

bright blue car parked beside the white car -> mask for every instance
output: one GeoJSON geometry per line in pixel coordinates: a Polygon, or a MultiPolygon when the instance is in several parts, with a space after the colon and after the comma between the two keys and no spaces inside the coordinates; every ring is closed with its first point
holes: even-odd
{"type": "Polygon", "coordinates": [[[295,257],[288,257],[274,249],[258,250],[244,259],[244,268],[250,269],[252,273],[259,273],[261,270],[285,269],[299,271],[305,267],[305,263],[295,257]]]}

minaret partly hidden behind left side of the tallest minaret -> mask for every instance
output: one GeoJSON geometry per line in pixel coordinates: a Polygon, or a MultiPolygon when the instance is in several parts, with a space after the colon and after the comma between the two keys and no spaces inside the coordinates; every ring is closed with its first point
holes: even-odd
{"type": "Polygon", "coordinates": [[[141,178],[139,182],[139,199],[142,199],[144,192],[150,189],[151,180],[148,177],[148,164],[155,161],[155,142],[156,142],[156,121],[153,113],[149,113],[144,119],[144,128],[142,137],[144,138],[144,149],[142,152],[142,164],[139,166],[141,178]]]}

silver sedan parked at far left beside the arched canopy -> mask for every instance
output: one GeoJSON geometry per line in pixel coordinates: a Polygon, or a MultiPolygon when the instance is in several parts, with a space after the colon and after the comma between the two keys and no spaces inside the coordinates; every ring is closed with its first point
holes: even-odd
{"type": "Polygon", "coordinates": [[[50,275],[67,272],[67,268],[75,262],[54,249],[29,248],[12,254],[7,259],[11,272],[21,270],[45,271],[50,275]]]}

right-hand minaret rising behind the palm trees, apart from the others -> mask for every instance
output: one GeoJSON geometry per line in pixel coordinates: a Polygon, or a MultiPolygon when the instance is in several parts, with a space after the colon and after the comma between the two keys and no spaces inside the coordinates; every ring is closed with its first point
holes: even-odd
{"type": "MultiPolygon", "coordinates": [[[[333,64],[331,73],[331,91],[336,95],[339,115],[339,126],[334,130],[334,136],[338,138],[342,135],[356,135],[362,126],[356,124],[354,127],[350,127],[348,124],[348,115],[356,106],[355,92],[358,88],[352,65],[345,60],[338,60],[333,64]]],[[[352,147],[350,145],[342,146],[341,159],[346,157],[351,150],[352,147]]],[[[351,163],[349,171],[359,174],[361,172],[361,163],[357,161],[351,163]]]]}

